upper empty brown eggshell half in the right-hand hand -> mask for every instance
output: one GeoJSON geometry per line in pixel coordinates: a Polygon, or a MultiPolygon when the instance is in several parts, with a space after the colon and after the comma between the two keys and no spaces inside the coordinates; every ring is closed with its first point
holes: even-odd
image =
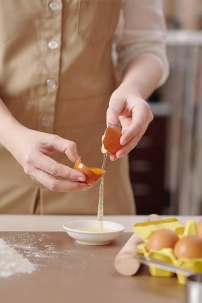
{"type": "Polygon", "coordinates": [[[102,153],[103,154],[113,154],[116,153],[118,149],[122,147],[120,144],[120,138],[122,133],[117,126],[109,123],[102,137],[102,153]]]}

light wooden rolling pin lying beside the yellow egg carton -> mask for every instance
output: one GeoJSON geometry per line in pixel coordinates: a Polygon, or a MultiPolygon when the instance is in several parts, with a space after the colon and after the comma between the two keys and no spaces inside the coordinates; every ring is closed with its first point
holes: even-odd
{"type": "MultiPolygon", "coordinates": [[[[145,221],[155,221],[160,219],[161,218],[158,215],[153,214],[149,215],[145,221]]],[[[114,261],[114,266],[118,273],[123,276],[133,276],[137,273],[141,264],[135,260],[134,257],[137,253],[137,245],[142,242],[143,240],[134,233],[119,251],[114,261]]]]}

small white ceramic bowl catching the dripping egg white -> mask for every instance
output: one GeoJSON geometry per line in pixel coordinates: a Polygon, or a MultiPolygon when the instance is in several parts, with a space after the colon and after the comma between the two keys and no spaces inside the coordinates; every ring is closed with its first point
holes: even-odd
{"type": "Polygon", "coordinates": [[[75,239],[80,244],[86,245],[105,245],[112,242],[112,240],[118,238],[125,227],[119,223],[103,221],[103,227],[112,229],[112,231],[83,231],[77,230],[77,228],[99,228],[97,220],[83,220],[68,222],[63,225],[67,234],[75,239]]]}

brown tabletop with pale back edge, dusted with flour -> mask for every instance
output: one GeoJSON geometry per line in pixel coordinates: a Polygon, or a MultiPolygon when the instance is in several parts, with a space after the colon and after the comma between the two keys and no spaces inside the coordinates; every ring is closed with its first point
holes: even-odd
{"type": "MultiPolygon", "coordinates": [[[[74,216],[0,216],[0,237],[17,249],[37,270],[31,274],[0,279],[1,302],[7,303],[183,303],[185,287],[175,277],[155,278],[141,267],[133,277],[122,277],[114,269],[114,258],[132,235],[132,225],[141,216],[105,217],[120,222],[126,232],[104,246],[76,243],[62,230],[74,216]]],[[[93,217],[90,217],[93,218],[93,217]]],[[[178,218],[185,223],[188,219],[178,218]]]]}

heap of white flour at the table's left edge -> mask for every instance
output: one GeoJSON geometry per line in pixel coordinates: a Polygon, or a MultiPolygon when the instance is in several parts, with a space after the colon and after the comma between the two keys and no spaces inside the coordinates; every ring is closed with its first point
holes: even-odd
{"type": "Polygon", "coordinates": [[[31,273],[35,269],[34,264],[0,238],[0,277],[9,277],[17,273],[31,273]]]}

